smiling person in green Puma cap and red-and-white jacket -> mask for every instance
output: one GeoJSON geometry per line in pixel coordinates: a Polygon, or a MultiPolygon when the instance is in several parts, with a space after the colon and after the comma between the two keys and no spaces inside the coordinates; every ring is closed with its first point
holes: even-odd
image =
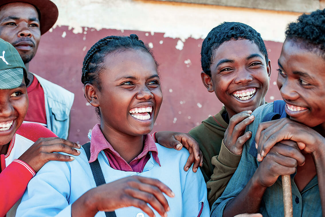
{"type": "Polygon", "coordinates": [[[80,154],[74,149],[80,144],[57,138],[40,124],[23,123],[28,84],[18,51],[0,39],[0,216],[15,216],[27,183],[46,162],[74,159],[53,152],[80,154]]]}

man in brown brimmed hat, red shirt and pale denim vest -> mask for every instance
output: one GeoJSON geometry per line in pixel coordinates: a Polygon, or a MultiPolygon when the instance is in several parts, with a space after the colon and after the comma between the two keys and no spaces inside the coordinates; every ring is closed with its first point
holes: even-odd
{"type": "Polygon", "coordinates": [[[0,1],[0,38],[17,49],[31,81],[27,92],[32,103],[24,121],[40,123],[66,139],[74,94],[29,72],[41,35],[54,25],[58,15],[58,8],[50,0],[0,1]]]}

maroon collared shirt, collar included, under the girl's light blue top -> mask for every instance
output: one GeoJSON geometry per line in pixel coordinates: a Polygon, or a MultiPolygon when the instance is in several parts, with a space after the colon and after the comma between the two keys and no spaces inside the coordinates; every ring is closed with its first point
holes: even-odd
{"type": "Polygon", "coordinates": [[[108,162],[110,163],[110,167],[115,170],[142,172],[144,166],[150,159],[150,152],[159,166],[161,166],[156,143],[149,134],[144,136],[144,147],[142,152],[128,164],[105,139],[100,130],[100,124],[96,124],[91,131],[89,163],[94,162],[97,159],[100,151],[104,151],[108,162]]]}

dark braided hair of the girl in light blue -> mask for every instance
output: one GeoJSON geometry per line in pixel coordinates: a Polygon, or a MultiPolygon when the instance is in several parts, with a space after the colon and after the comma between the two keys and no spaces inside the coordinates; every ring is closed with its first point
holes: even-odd
{"type": "MultiPolygon", "coordinates": [[[[152,56],[158,68],[158,62],[155,60],[150,48],[143,41],[139,40],[136,34],[130,34],[130,36],[107,36],[96,42],[85,56],[81,76],[81,82],[84,84],[84,87],[89,83],[101,91],[99,74],[104,67],[105,57],[114,51],[125,51],[129,49],[143,49],[147,51],[152,56]]],[[[95,111],[100,116],[98,107],[96,107],[95,111]]]]}

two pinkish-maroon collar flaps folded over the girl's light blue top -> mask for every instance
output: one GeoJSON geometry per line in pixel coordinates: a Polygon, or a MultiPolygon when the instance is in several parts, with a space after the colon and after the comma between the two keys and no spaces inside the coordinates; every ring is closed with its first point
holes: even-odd
{"type": "MultiPolygon", "coordinates": [[[[100,130],[100,124],[96,124],[94,126],[94,128],[91,131],[91,136],[89,137],[91,137],[89,163],[94,162],[97,159],[99,152],[101,152],[104,149],[109,149],[115,155],[120,156],[111,146],[111,144],[105,139],[102,131],[100,130]]],[[[143,151],[135,159],[144,157],[148,154],[148,152],[151,151],[152,157],[159,164],[159,166],[161,166],[158,158],[158,150],[157,150],[156,143],[154,142],[154,140],[149,134],[144,135],[144,139],[145,141],[144,141],[143,151]]]]}

